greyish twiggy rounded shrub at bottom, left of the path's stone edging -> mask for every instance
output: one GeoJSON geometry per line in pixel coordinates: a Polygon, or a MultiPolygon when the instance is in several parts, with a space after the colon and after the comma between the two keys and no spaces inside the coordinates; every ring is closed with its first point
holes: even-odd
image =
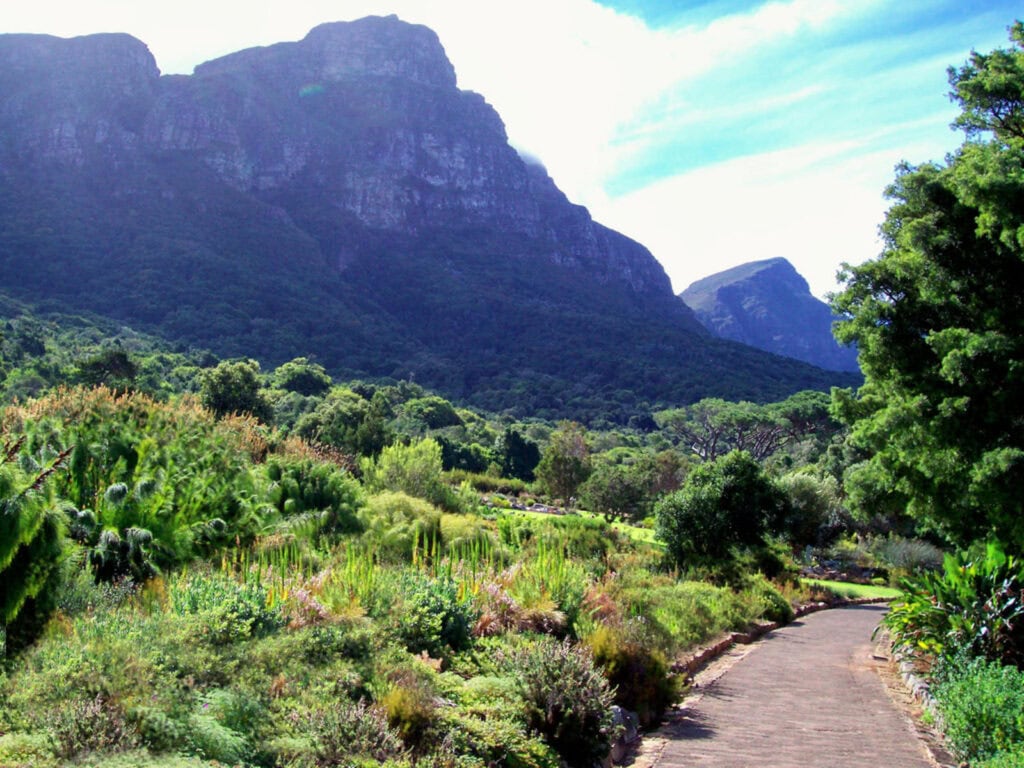
{"type": "Polygon", "coordinates": [[[515,656],[527,725],[570,766],[590,768],[611,749],[613,694],[590,651],[539,638],[515,656]]]}

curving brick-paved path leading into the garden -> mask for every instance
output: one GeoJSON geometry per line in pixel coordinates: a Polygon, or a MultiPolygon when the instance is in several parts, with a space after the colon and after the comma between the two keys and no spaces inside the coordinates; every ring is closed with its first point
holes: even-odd
{"type": "Polygon", "coordinates": [[[879,675],[884,612],[812,613],[739,650],[662,729],[656,768],[934,768],[879,675]]]}

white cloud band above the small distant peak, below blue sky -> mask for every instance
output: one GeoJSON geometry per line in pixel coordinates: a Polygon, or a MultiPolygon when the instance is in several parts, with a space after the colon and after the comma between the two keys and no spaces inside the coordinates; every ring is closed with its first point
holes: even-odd
{"type": "Polygon", "coordinates": [[[858,264],[881,251],[884,190],[896,164],[942,151],[934,142],[880,148],[887,135],[706,166],[605,199],[594,211],[647,246],[677,293],[714,272],[783,256],[821,297],[836,289],[842,262],[858,264]]]}

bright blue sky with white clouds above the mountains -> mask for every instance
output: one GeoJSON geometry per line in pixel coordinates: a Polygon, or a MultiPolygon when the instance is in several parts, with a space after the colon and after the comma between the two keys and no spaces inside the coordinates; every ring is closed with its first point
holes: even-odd
{"type": "Polygon", "coordinates": [[[164,74],[318,24],[433,29],[459,87],[679,292],[782,256],[818,296],[881,250],[897,163],[962,136],[946,69],[1008,46],[1020,0],[2,0],[0,32],[127,32],[164,74]]]}

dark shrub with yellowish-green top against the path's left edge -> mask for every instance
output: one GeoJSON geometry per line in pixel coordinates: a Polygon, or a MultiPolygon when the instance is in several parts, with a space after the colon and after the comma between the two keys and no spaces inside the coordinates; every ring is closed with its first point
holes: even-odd
{"type": "Polygon", "coordinates": [[[636,625],[598,627],[587,644],[614,689],[615,703],[636,712],[644,728],[657,723],[679,694],[665,654],[636,625]]]}

